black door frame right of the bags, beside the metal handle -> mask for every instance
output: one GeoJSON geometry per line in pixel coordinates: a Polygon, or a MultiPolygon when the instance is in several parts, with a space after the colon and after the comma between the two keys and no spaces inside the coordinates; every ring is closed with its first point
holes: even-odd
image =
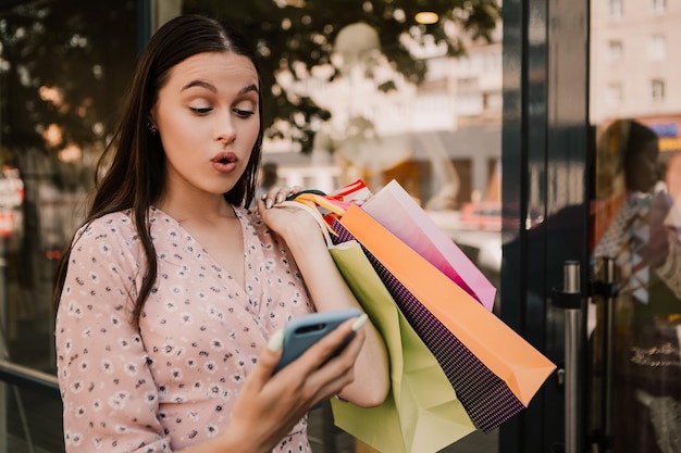
{"type": "MultiPolygon", "coordinates": [[[[587,292],[589,0],[507,0],[503,8],[502,193],[504,237],[512,239],[504,243],[500,313],[561,369],[565,312],[552,294],[562,285],[567,261],[580,263],[582,300],[587,292]],[[525,218],[540,223],[529,226],[525,218]]],[[[580,352],[578,383],[584,389],[580,352]]],[[[585,445],[583,403],[578,442],[585,445]]],[[[564,451],[565,407],[555,373],[530,407],[502,426],[499,452],[564,451]]]]}

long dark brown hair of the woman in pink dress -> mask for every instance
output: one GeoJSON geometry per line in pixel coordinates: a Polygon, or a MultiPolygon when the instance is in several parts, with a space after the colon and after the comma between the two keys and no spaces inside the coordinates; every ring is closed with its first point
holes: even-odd
{"type": "MultiPolygon", "coordinates": [[[[157,279],[156,249],[149,231],[149,207],[159,200],[165,187],[165,156],[161,139],[149,128],[152,106],[170,71],[197,53],[232,52],[247,56],[260,71],[256,55],[235,28],[201,15],[182,15],[165,23],[151,37],[140,55],[132,87],[124,105],[123,118],[113,139],[102,153],[95,174],[96,191],[82,227],[96,218],[131,210],[139,241],[144,248],[146,273],[135,306],[133,323],[139,316],[157,279]],[[102,176],[103,175],[103,176],[102,176]]],[[[262,90],[259,99],[260,131],[246,171],[234,188],[224,194],[234,205],[249,205],[256,193],[262,147],[262,90]]],[[[52,302],[59,305],[66,278],[69,256],[77,238],[73,238],[54,276],[52,302]]]]}

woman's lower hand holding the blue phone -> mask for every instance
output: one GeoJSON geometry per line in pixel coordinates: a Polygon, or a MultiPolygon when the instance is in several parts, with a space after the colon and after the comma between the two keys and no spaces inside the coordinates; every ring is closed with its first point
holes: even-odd
{"type": "Polygon", "coordinates": [[[273,336],[239,392],[223,438],[228,443],[222,444],[227,446],[225,451],[271,451],[311,407],[352,382],[355,361],[364,342],[360,329],[364,320],[345,322],[275,375],[282,336],[273,336]],[[357,335],[343,352],[325,363],[356,329],[357,335]]]}

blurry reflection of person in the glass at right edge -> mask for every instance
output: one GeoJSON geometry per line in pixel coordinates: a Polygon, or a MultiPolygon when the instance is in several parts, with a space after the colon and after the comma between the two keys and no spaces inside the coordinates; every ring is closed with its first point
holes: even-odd
{"type": "Polygon", "coordinates": [[[619,288],[614,451],[681,452],[681,246],[658,137],[617,121],[598,143],[593,255],[615,261],[619,288]]]}

